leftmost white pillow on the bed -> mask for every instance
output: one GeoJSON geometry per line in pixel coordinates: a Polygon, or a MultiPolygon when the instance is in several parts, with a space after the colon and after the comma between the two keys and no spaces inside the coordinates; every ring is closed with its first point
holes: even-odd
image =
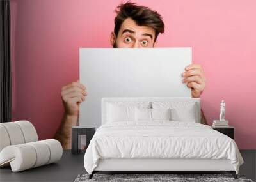
{"type": "Polygon", "coordinates": [[[108,122],[134,121],[135,106],[113,105],[109,103],[107,118],[108,122]]]}

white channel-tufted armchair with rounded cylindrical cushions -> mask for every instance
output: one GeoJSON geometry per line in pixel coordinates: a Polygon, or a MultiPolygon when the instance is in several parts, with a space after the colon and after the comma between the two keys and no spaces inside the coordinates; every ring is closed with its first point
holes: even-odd
{"type": "Polygon", "coordinates": [[[0,167],[11,165],[13,172],[23,171],[56,162],[62,153],[58,140],[38,141],[29,121],[0,123],[0,167]]]}

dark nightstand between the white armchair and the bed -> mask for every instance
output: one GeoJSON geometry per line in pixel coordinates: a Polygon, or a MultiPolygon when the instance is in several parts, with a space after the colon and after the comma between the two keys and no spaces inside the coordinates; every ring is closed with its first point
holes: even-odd
{"type": "Polygon", "coordinates": [[[95,130],[95,126],[72,126],[71,153],[79,154],[86,149],[95,130]]]}

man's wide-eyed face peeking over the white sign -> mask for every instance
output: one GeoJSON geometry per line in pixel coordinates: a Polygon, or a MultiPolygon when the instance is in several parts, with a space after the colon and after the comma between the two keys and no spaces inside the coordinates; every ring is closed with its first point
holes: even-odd
{"type": "Polygon", "coordinates": [[[138,26],[134,20],[127,18],[122,23],[117,37],[111,33],[113,47],[150,48],[156,45],[155,30],[148,26],[138,26]]]}

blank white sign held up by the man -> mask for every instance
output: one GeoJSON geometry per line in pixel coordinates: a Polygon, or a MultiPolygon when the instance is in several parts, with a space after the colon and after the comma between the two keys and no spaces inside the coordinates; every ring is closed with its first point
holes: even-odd
{"type": "Polygon", "coordinates": [[[186,97],[182,72],[191,64],[185,48],[80,48],[80,82],[88,96],[80,105],[81,126],[101,123],[104,97],[186,97]]]}

